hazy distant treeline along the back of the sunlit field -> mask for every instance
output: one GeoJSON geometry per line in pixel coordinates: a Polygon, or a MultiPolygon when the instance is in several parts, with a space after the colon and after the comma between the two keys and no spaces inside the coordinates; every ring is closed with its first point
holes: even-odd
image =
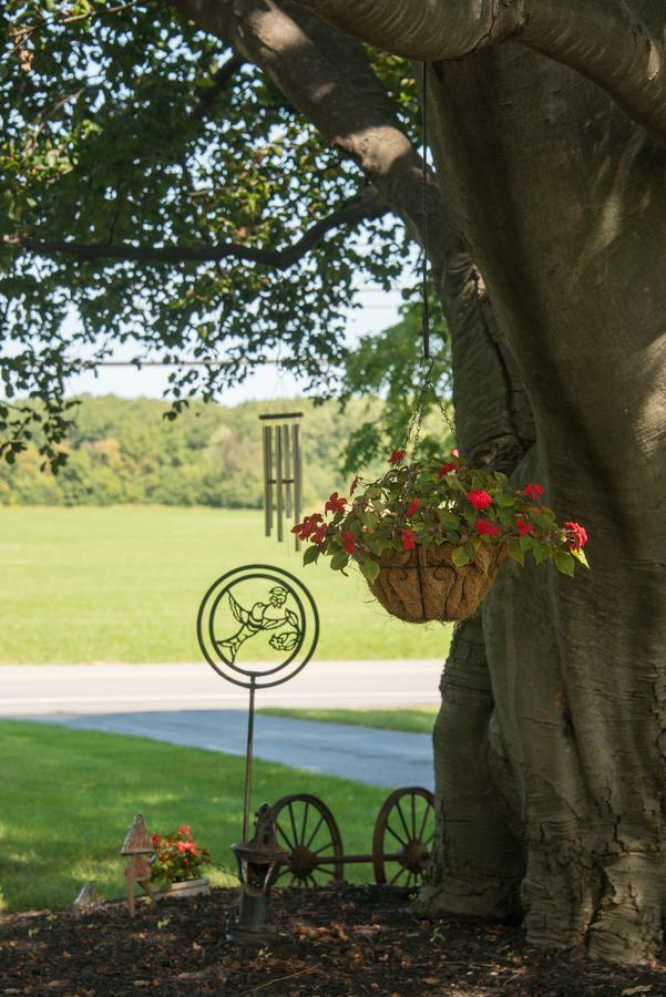
{"type": "MultiPolygon", "coordinates": [[[[84,398],[69,435],[69,460],[58,476],[40,471],[39,439],[14,466],[0,464],[2,505],[113,505],[155,503],[226,508],[262,504],[258,415],[281,402],[247,402],[236,408],[194,402],[173,422],[170,405],[114,395],[84,398]]],[[[294,401],[286,403],[294,408],[294,401]]],[[[305,501],[345,485],[342,451],[362,419],[380,403],[354,400],[345,412],[336,403],[306,412],[305,501]]]]}

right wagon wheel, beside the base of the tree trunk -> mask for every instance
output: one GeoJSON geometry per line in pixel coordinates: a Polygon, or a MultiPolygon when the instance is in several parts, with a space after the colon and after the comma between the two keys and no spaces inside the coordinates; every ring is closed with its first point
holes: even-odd
{"type": "Polygon", "coordinates": [[[421,787],[396,790],[381,805],[372,835],[375,882],[420,886],[434,839],[434,796],[421,787]],[[391,857],[389,857],[391,856],[391,857]],[[397,868],[387,868],[389,864],[397,868]]]}

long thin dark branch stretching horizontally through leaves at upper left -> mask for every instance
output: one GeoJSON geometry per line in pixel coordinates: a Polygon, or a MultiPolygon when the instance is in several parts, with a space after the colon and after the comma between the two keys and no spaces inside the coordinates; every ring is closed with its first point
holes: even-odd
{"type": "Polygon", "coordinates": [[[35,256],[64,255],[79,263],[96,263],[98,260],[123,260],[126,263],[218,263],[234,257],[247,263],[260,264],[277,270],[286,270],[297,263],[306,253],[336,228],[358,225],[371,218],[380,218],[389,210],[376,192],[363,192],[355,201],[350,201],[337,212],[321,218],[305,235],[285,249],[262,249],[257,246],[243,246],[239,243],[225,243],[223,246],[129,246],[105,243],[72,243],[58,239],[35,239],[30,236],[3,236],[6,246],[27,249],[35,256]]]}

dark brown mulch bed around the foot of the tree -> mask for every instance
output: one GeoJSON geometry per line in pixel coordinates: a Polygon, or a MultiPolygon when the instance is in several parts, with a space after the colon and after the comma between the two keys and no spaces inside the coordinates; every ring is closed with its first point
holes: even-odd
{"type": "Polygon", "coordinates": [[[0,917],[0,995],[126,994],[666,995],[666,969],[625,968],[524,943],[519,928],[424,921],[407,891],[274,891],[279,934],[266,948],[226,939],[236,891],[0,917]]]}

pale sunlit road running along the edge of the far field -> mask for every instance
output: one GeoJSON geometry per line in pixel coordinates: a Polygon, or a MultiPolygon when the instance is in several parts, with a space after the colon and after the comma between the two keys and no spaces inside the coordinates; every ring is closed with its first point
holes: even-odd
{"type": "MultiPolygon", "coordinates": [[[[257,707],[437,703],[441,660],[314,661],[257,707]]],[[[247,692],[196,665],[0,665],[0,716],[245,710],[247,692]]]]}

